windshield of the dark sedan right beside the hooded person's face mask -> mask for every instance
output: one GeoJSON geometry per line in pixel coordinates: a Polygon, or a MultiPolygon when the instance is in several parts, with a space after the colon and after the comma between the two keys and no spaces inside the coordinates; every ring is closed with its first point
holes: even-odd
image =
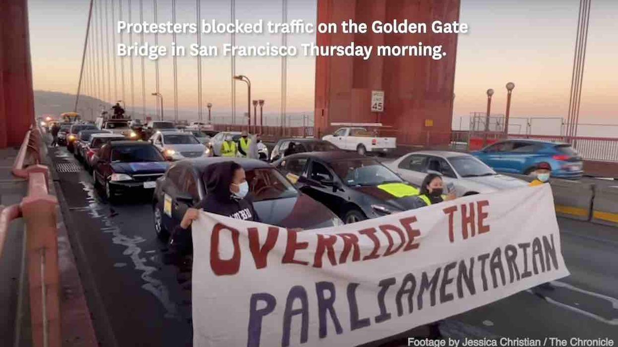
{"type": "Polygon", "coordinates": [[[253,169],[246,172],[253,201],[294,198],[298,191],[274,168],[253,169]]]}

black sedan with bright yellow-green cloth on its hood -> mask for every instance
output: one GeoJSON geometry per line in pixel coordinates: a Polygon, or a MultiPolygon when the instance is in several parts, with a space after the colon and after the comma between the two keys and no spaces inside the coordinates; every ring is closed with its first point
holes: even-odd
{"type": "Polygon", "coordinates": [[[346,224],[411,209],[419,193],[375,159],[356,153],[292,154],[274,165],[346,224]]]}

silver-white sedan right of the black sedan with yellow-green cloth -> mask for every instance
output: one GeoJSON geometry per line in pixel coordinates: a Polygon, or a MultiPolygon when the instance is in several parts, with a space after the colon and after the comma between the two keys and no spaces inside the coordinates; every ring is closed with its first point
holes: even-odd
{"type": "Polygon", "coordinates": [[[439,174],[445,185],[454,187],[457,196],[493,193],[528,184],[518,178],[496,174],[491,167],[466,153],[418,151],[384,165],[418,186],[427,174],[439,174]]]}

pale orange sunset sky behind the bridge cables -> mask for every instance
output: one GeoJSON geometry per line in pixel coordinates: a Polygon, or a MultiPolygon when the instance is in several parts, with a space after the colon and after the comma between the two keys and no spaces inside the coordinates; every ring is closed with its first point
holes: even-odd
{"type": "MultiPolygon", "coordinates": [[[[104,4],[108,4],[111,23],[112,0],[99,0],[100,14],[105,19],[104,4]]],[[[98,1],[97,1],[98,2],[98,1]]],[[[118,1],[114,0],[116,19],[118,1]]],[[[281,20],[281,1],[237,0],[237,19],[281,20]]],[[[151,0],[143,0],[144,19],[152,20],[151,0]]],[[[507,82],[515,83],[512,117],[566,117],[573,64],[578,0],[462,0],[460,22],[468,23],[470,32],[459,36],[457,70],[455,72],[454,119],[473,111],[485,110],[485,91],[494,88],[493,111],[504,113],[507,82]]],[[[98,6],[95,5],[95,6],[98,6]]],[[[127,20],[129,2],[122,0],[127,20]]],[[[139,20],[140,0],[131,1],[132,20],[139,20]]],[[[315,22],[316,1],[289,0],[289,19],[315,22]]],[[[99,7],[96,7],[97,9],[99,7]]],[[[62,91],[74,94],[77,89],[83,40],[87,22],[87,0],[30,0],[30,44],[35,90],[62,91]]],[[[204,19],[229,20],[229,1],[203,1],[204,19]]],[[[159,22],[171,20],[171,1],[158,1],[159,22]]],[[[195,21],[195,1],[177,0],[177,22],[195,21]]],[[[594,0],[591,8],[588,51],[586,53],[580,122],[618,124],[618,1],[594,0]]],[[[98,17],[97,17],[98,20],[98,17]]],[[[106,36],[103,34],[103,42],[106,36]]],[[[109,36],[111,48],[112,36],[109,36]]],[[[118,37],[116,38],[118,41],[118,37]]],[[[124,35],[124,41],[128,41],[124,35]]],[[[180,44],[195,42],[195,35],[178,35],[180,44]]],[[[202,35],[202,44],[221,44],[226,35],[202,35]]],[[[133,41],[139,41],[134,35],[133,41]]],[[[151,35],[145,41],[154,43],[151,35]]],[[[171,35],[159,35],[159,44],[169,44],[171,35]]],[[[313,41],[312,35],[289,36],[288,44],[313,41]]],[[[237,44],[280,44],[277,35],[237,36],[237,44]]],[[[213,112],[229,110],[230,58],[209,57],[203,62],[204,102],[213,102],[213,112]]],[[[104,66],[106,62],[104,61],[104,66]]],[[[112,61],[109,62],[112,66],[112,61]]],[[[116,59],[117,92],[113,73],[105,94],[111,102],[122,98],[120,88],[121,59],[116,59]]],[[[279,110],[281,85],[280,60],[274,57],[237,58],[237,73],[252,79],[254,98],[266,99],[265,112],[279,110]]],[[[287,109],[289,112],[313,110],[313,78],[315,61],[311,57],[288,59],[287,109]]],[[[134,92],[130,93],[130,62],[125,58],[125,92],[127,108],[142,107],[140,59],[133,59],[134,92]]],[[[161,93],[165,108],[173,107],[172,59],[160,60],[161,93]]],[[[113,70],[112,70],[113,71],[113,70]]],[[[155,107],[154,64],[146,59],[146,107],[155,107]]],[[[178,58],[179,109],[197,108],[197,59],[178,58]]],[[[107,80],[106,80],[107,82],[107,80]]],[[[237,86],[237,109],[245,107],[245,85],[237,86]]],[[[88,91],[88,90],[87,90],[88,91]]],[[[169,112],[169,111],[168,111],[169,112]]],[[[238,111],[240,112],[240,111],[238,111]]]]}

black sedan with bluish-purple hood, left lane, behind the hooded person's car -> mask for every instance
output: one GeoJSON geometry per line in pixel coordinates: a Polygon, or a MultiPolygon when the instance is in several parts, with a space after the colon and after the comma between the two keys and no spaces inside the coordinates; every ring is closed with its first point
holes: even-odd
{"type": "Polygon", "coordinates": [[[103,186],[108,201],[129,191],[152,191],[169,163],[155,146],[140,141],[111,141],[93,158],[95,186],[103,186]]]}

